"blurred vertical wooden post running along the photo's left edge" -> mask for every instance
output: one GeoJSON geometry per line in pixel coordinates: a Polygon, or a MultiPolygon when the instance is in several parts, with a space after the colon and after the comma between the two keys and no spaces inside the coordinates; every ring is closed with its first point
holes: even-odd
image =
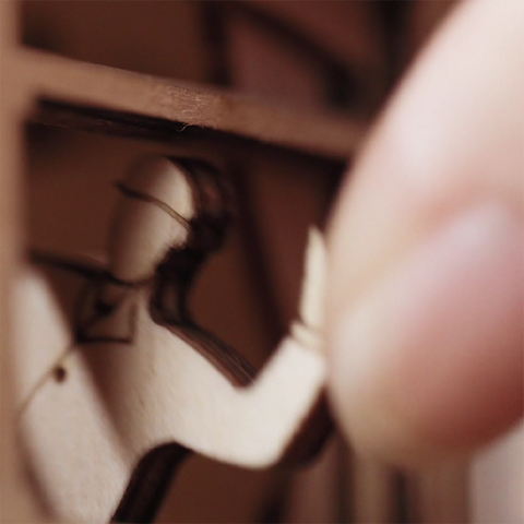
{"type": "Polygon", "coordinates": [[[20,2],[0,1],[0,522],[39,522],[28,484],[22,475],[15,429],[13,289],[21,253],[23,108],[27,86],[15,73],[20,2]]]}

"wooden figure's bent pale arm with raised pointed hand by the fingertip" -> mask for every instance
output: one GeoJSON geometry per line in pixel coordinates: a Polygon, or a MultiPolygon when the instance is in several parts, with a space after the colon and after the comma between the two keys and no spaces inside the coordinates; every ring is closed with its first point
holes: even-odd
{"type": "Polygon", "coordinates": [[[314,421],[308,426],[308,420],[319,409],[325,381],[320,336],[322,259],[322,239],[313,233],[302,320],[291,326],[251,385],[235,388],[207,361],[184,354],[186,373],[170,386],[170,394],[164,392],[184,412],[183,428],[172,419],[172,431],[184,445],[224,462],[264,467],[281,462],[297,439],[319,429],[311,427],[314,421]],[[189,365],[190,358],[194,364],[189,365]],[[188,373],[194,373],[194,379],[188,373]],[[190,389],[191,383],[195,389],[190,389]]]}

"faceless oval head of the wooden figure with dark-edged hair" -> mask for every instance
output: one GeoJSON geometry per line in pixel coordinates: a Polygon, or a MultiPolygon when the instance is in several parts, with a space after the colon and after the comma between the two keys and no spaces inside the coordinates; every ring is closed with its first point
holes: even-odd
{"type": "Polygon", "coordinates": [[[212,251],[228,222],[228,191],[217,172],[198,160],[150,156],[118,183],[109,239],[109,271],[124,282],[153,276],[172,249],[212,251]]]}

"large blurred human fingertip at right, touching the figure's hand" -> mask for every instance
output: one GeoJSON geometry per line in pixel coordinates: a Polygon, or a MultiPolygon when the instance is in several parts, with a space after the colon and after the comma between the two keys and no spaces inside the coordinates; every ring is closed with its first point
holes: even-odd
{"type": "Polygon", "coordinates": [[[524,2],[463,2],[343,188],[329,237],[336,417],[420,465],[524,414],[524,2]]]}

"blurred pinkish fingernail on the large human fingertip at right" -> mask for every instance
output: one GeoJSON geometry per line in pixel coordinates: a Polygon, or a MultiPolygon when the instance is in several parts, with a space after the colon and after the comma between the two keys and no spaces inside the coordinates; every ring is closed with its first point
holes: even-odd
{"type": "Polygon", "coordinates": [[[330,393],[358,448],[417,464],[490,439],[524,413],[524,222],[455,215],[335,325],[330,393]]]}

